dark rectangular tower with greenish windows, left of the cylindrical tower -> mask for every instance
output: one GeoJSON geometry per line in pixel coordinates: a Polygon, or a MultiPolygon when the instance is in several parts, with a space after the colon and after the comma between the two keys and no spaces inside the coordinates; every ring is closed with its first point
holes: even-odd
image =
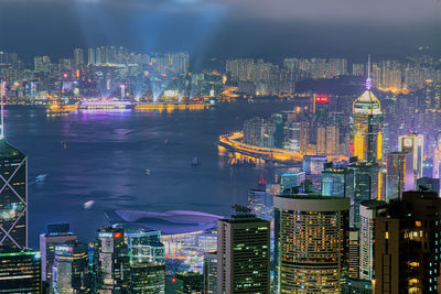
{"type": "Polygon", "coordinates": [[[269,293],[269,221],[236,210],[217,221],[217,293],[269,293]]]}

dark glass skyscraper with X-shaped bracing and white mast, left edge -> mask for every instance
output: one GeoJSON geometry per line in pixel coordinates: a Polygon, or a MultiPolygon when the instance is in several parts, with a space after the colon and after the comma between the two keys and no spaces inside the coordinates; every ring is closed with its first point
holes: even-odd
{"type": "Polygon", "coordinates": [[[4,139],[1,83],[0,127],[0,247],[28,247],[28,157],[4,139]]]}

